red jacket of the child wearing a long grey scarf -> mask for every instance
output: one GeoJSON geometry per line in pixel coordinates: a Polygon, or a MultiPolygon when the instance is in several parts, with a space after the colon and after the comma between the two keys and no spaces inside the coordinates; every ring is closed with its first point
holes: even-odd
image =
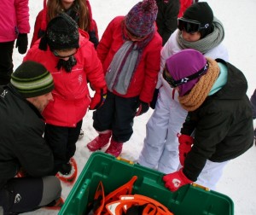
{"type": "MultiPolygon", "coordinates": [[[[108,67],[113,60],[113,55],[125,43],[122,34],[122,21],[125,16],[114,18],[102,35],[102,39],[97,47],[97,54],[102,61],[103,71],[106,74],[108,67]]],[[[154,87],[157,82],[157,76],[160,71],[160,49],[162,39],[158,32],[155,32],[154,38],[143,49],[141,61],[137,66],[131,78],[131,84],[125,95],[120,95],[116,91],[114,94],[122,97],[139,96],[143,102],[151,102],[154,93],[154,87]]]]}

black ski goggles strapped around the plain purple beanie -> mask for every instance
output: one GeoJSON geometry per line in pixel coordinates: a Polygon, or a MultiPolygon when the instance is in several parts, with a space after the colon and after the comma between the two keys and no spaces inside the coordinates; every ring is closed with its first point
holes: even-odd
{"type": "Polygon", "coordinates": [[[199,78],[201,75],[207,73],[207,69],[208,69],[209,65],[208,63],[201,68],[201,70],[199,70],[197,73],[194,73],[192,75],[189,75],[188,77],[184,77],[184,78],[181,78],[179,80],[174,80],[172,78],[172,76],[170,75],[169,71],[167,70],[167,68],[165,67],[164,69],[164,72],[163,72],[163,78],[166,80],[166,82],[168,84],[170,84],[170,86],[172,88],[175,88],[177,87],[178,85],[181,85],[181,84],[185,84],[187,82],[189,82],[190,80],[193,80],[195,78],[199,78]]]}

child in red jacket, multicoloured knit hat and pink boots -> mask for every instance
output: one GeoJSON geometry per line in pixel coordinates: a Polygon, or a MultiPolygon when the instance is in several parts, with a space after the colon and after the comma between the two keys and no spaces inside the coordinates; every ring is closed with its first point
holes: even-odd
{"type": "Polygon", "coordinates": [[[106,153],[119,156],[132,135],[134,117],[148,111],[160,71],[162,40],[154,26],[156,15],[155,1],[144,0],[126,16],[115,17],[102,35],[97,54],[108,94],[93,114],[99,136],[87,144],[90,151],[104,147],[112,137],[106,153]]]}

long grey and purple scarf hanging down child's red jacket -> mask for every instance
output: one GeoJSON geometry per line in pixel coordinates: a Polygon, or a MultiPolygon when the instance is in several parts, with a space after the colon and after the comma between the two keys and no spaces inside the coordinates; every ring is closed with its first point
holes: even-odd
{"type": "Polygon", "coordinates": [[[113,55],[113,60],[108,67],[105,77],[108,90],[115,90],[120,95],[126,94],[131,83],[132,75],[136,71],[137,65],[141,59],[143,49],[154,37],[154,32],[151,32],[148,37],[142,41],[133,42],[127,35],[125,35],[123,27],[123,38],[125,39],[125,43],[113,55]]]}

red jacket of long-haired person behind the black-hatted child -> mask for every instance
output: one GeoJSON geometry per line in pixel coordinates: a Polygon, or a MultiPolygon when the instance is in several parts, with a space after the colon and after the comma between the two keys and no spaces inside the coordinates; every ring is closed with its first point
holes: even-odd
{"type": "MultiPolygon", "coordinates": [[[[90,2],[88,0],[86,0],[86,5],[88,7],[89,15],[90,15],[90,31],[94,31],[95,34],[96,34],[96,38],[99,39],[98,28],[97,28],[97,25],[96,25],[96,21],[92,19],[90,2]]],[[[46,0],[44,0],[44,9],[42,9],[38,13],[38,16],[36,18],[33,37],[32,37],[32,42],[31,42],[31,47],[38,40],[38,32],[39,31],[45,31],[46,26],[47,26],[47,5],[46,5],[46,0]]]]}

